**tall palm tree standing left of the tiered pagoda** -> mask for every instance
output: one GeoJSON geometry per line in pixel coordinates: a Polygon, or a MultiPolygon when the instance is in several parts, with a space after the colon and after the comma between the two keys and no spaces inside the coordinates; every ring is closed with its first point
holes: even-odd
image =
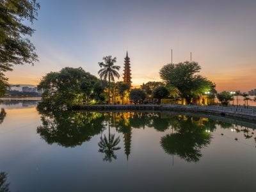
{"type": "Polygon", "coordinates": [[[120,66],[114,65],[116,63],[116,58],[112,56],[106,56],[103,58],[104,62],[99,62],[100,70],[98,72],[100,79],[108,79],[108,103],[110,103],[110,81],[115,81],[115,77],[119,79],[120,75],[118,70],[120,66]]]}

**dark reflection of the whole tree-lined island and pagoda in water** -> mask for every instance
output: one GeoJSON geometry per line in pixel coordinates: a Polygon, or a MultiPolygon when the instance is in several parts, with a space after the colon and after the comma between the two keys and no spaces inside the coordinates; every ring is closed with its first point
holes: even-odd
{"type": "MultiPolygon", "coordinates": [[[[147,127],[163,132],[159,142],[166,154],[194,163],[202,157],[202,148],[211,143],[211,132],[214,132],[217,127],[234,128],[234,124],[221,120],[171,113],[89,111],[52,113],[42,109],[39,112],[42,115],[42,125],[37,128],[37,132],[47,143],[76,147],[90,141],[93,136],[101,134],[97,144],[99,152],[104,154],[103,161],[108,162],[117,159],[116,151],[121,149],[120,136],[111,133],[111,127],[123,135],[124,154],[127,160],[131,155],[132,129],[147,127]],[[104,130],[108,132],[102,136],[104,130]]],[[[240,129],[237,127],[234,130],[243,132],[246,139],[253,137],[253,132],[247,127],[240,129]]]]}

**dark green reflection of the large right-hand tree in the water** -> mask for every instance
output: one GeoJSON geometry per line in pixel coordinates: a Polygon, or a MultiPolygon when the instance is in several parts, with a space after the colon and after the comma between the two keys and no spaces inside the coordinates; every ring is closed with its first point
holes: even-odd
{"type": "Polygon", "coordinates": [[[161,138],[161,147],[167,154],[177,155],[188,162],[197,162],[202,157],[201,149],[211,142],[211,134],[204,124],[192,117],[172,118],[175,132],[161,138]]]}

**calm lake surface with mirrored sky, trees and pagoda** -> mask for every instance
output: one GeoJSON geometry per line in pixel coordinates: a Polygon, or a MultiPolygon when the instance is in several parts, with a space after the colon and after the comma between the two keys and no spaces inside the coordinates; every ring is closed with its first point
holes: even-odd
{"type": "Polygon", "coordinates": [[[1,104],[0,191],[256,191],[256,124],[1,104]]]}

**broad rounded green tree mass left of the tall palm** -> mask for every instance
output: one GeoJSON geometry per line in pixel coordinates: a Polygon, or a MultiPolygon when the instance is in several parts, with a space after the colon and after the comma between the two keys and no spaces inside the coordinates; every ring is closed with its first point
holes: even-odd
{"type": "Polygon", "coordinates": [[[83,68],[66,67],[60,72],[50,72],[43,77],[38,90],[43,91],[41,105],[51,109],[67,109],[103,97],[99,94],[103,90],[99,79],[83,68]]]}

